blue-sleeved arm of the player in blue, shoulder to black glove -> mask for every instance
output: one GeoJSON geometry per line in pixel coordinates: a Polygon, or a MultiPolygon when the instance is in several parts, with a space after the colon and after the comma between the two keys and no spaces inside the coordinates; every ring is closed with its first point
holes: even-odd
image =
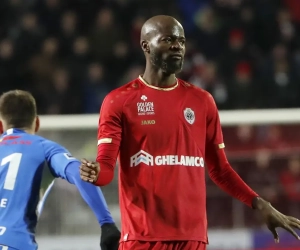
{"type": "Polygon", "coordinates": [[[101,190],[81,180],[79,174],[81,163],[57,143],[43,141],[42,145],[51,173],[55,177],[65,179],[77,187],[82,198],[92,209],[101,226],[105,223],[114,223],[101,190]]]}

